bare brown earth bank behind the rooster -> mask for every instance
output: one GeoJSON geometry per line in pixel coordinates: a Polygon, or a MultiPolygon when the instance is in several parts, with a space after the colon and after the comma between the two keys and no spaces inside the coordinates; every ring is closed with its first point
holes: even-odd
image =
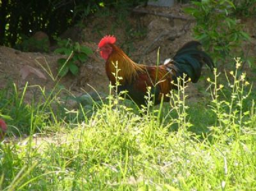
{"type": "MultiPolygon", "coordinates": [[[[109,81],[105,73],[104,60],[101,59],[96,51],[97,43],[105,34],[115,34],[117,44],[124,47],[124,50],[126,50],[127,47],[129,48],[130,45],[132,47],[130,50],[132,51],[129,51],[129,56],[134,59],[134,61],[145,63],[147,65],[155,65],[159,47],[159,59],[161,62],[168,57],[172,57],[184,43],[193,40],[191,28],[195,22],[190,20],[191,17],[183,13],[183,6],[186,5],[178,4],[173,8],[156,8],[148,6],[144,9],[148,11],[157,11],[159,13],[172,13],[172,15],[185,17],[184,20],[168,19],[166,17],[145,13],[132,13],[129,17],[129,22],[131,22],[131,26],[134,27],[131,28],[131,33],[138,32],[138,37],[134,35],[135,37],[132,40],[133,43],[127,41],[127,33],[125,33],[125,30],[127,31],[129,29],[125,29],[124,26],[118,26],[111,16],[109,16],[108,19],[106,19],[106,17],[95,16],[91,18],[92,20],[90,20],[89,24],[87,24],[83,30],[77,29],[77,27],[68,29],[68,31],[63,34],[63,37],[77,40],[83,45],[92,48],[93,54],[85,63],[83,63],[83,65],[81,65],[77,77],[68,74],[60,80],[60,84],[69,89],[74,95],[81,95],[84,91],[92,92],[94,91],[93,88],[99,92],[108,93],[109,81]],[[145,26],[145,29],[147,30],[145,35],[140,34],[142,33],[140,32],[140,29],[143,29],[141,26],[145,26]],[[124,42],[129,45],[125,46],[124,42]]],[[[255,35],[255,19],[246,19],[241,22],[244,22],[245,29],[248,33],[252,36],[255,35]]],[[[246,42],[246,45],[250,46],[249,53],[255,56],[255,38],[252,38],[252,42],[246,42]]],[[[60,57],[60,55],[53,53],[20,52],[19,50],[8,47],[0,47],[0,88],[4,88],[10,82],[14,82],[18,88],[22,88],[25,86],[26,82],[28,82],[29,86],[40,85],[44,86],[45,89],[51,90],[56,85],[56,81],[45,72],[44,68],[47,68],[47,65],[49,65],[53,76],[56,77],[58,66],[57,60],[60,57]],[[31,66],[36,69],[36,71],[44,73],[45,79],[44,77],[40,78],[33,73],[30,73],[28,77],[22,79],[21,74],[24,66],[31,66]]],[[[205,70],[206,69],[207,68],[205,68],[205,70]]],[[[201,81],[199,83],[205,86],[205,82],[201,81]]],[[[189,84],[189,96],[195,98],[195,100],[196,96],[200,96],[196,86],[198,85],[189,84]]],[[[28,89],[28,101],[34,93],[35,91],[33,88],[28,89]]]]}

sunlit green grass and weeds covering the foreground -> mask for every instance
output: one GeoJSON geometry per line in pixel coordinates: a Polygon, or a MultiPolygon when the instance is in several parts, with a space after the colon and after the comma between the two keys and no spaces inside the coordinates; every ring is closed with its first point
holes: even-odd
{"type": "Polygon", "coordinates": [[[207,103],[181,87],[142,114],[115,94],[68,111],[56,89],[31,104],[33,87],[3,89],[0,190],[255,190],[255,93],[236,72],[225,84],[209,80],[207,103]]]}

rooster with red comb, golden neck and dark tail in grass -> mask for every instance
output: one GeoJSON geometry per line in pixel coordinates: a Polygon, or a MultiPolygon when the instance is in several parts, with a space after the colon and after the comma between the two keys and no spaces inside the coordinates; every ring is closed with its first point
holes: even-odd
{"type": "Polygon", "coordinates": [[[135,63],[115,42],[115,36],[108,35],[98,45],[100,56],[106,60],[108,79],[111,84],[116,84],[115,73],[118,68],[118,92],[127,91],[128,97],[138,106],[145,105],[149,86],[154,94],[154,105],[159,104],[162,99],[168,102],[170,98],[166,95],[172,89],[177,89],[178,77],[182,78],[185,73],[185,80],[191,79],[195,83],[201,75],[202,65],[208,65],[211,70],[214,68],[211,57],[200,50],[201,44],[196,41],[186,43],[173,59],[168,59],[164,65],[159,66],[135,63]]]}

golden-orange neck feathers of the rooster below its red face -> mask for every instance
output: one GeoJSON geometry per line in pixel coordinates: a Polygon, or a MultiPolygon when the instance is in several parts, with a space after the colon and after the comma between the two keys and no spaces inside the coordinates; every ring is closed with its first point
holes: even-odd
{"type": "Polygon", "coordinates": [[[118,66],[118,77],[121,84],[126,82],[131,82],[132,79],[138,76],[138,72],[145,71],[145,65],[138,65],[134,63],[121,49],[116,47],[116,45],[111,45],[113,52],[109,56],[106,62],[106,72],[108,74],[109,80],[115,83],[116,77],[113,73],[116,73],[116,65],[118,66]]]}

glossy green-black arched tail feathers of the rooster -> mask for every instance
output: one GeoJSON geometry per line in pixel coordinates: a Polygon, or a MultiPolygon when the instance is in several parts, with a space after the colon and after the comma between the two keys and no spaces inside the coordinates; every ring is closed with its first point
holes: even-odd
{"type": "Polygon", "coordinates": [[[200,49],[201,43],[191,41],[186,43],[173,57],[175,71],[177,77],[183,77],[186,73],[192,82],[197,82],[201,75],[202,66],[205,64],[213,70],[214,63],[211,57],[200,49]]]}

